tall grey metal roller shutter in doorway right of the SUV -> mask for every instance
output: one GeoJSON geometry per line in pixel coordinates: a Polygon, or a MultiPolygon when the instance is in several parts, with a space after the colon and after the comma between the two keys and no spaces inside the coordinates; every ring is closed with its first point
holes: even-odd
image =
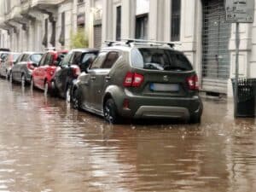
{"type": "Polygon", "coordinates": [[[225,22],[224,0],[204,0],[202,9],[202,89],[227,93],[231,24],[225,22]]]}

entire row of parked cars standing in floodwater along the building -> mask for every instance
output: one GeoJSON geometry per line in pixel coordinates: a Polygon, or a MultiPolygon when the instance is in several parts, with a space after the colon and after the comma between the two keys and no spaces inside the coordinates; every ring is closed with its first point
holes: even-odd
{"type": "Polygon", "coordinates": [[[26,52],[5,74],[113,124],[124,119],[199,123],[203,105],[195,70],[182,52],[167,45],[130,39],[100,50],[26,52]]]}

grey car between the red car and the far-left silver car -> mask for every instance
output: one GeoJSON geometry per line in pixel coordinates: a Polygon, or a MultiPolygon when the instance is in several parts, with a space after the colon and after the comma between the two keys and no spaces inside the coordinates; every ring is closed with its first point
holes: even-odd
{"type": "Polygon", "coordinates": [[[31,82],[32,71],[38,67],[43,53],[25,52],[20,55],[10,71],[10,80],[22,85],[31,82]]]}

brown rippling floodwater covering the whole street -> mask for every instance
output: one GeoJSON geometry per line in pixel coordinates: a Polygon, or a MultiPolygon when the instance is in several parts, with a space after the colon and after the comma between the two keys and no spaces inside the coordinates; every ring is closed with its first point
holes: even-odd
{"type": "Polygon", "coordinates": [[[108,125],[0,80],[0,192],[256,191],[256,125],[204,99],[201,125],[108,125]]]}

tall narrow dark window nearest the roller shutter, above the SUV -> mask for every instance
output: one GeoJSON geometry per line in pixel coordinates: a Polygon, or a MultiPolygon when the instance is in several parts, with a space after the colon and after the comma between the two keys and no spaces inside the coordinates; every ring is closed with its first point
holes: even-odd
{"type": "Polygon", "coordinates": [[[172,0],[171,40],[180,40],[181,0],[172,0]]]}

